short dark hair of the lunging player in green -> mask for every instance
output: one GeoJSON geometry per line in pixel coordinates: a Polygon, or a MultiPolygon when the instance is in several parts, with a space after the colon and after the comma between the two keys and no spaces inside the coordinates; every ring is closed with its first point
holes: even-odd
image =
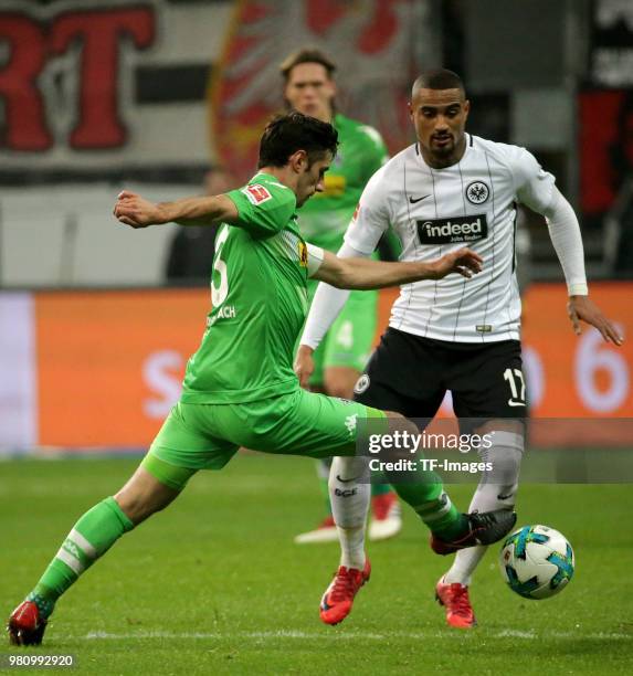
{"type": "Polygon", "coordinates": [[[338,133],[328,123],[292,110],[274,117],[260,141],[257,168],[285,167],[297,150],[305,150],[312,165],[326,152],[336,155],[338,133]]]}

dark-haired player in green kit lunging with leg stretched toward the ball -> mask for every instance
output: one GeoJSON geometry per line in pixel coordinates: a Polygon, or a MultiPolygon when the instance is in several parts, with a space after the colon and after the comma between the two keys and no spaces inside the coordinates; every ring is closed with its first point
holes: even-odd
{"type": "MultiPolygon", "coordinates": [[[[213,309],[188,363],[180,401],[133,477],[80,518],[13,611],[8,626],[13,644],[41,643],[55,602],[87,568],[120,536],[167,507],[196,472],[221,468],[239,446],[315,457],[334,450],[365,464],[356,450],[358,419],[376,418],[386,430],[410,425],[397,414],[299,388],[292,358],[307,307],[307,277],[373,288],[451,272],[470,276],[479,260],[461,250],[433,263],[346,261],[307,245],[295,210],[323,190],[336,139],[330,125],[294,113],[266,127],[260,172],[241,190],[160,204],[133,192],[119,194],[115,215],[133,228],[224,223],[213,262],[213,309]]],[[[359,478],[341,477],[354,498],[363,492],[359,478]]],[[[399,492],[429,525],[435,551],[499,539],[514,525],[507,513],[462,515],[436,477],[419,473],[414,478],[399,492]]],[[[369,577],[369,563],[362,570],[345,563],[337,589],[346,590],[349,606],[349,594],[369,577]]],[[[329,601],[328,612],[345,610],[339,596],[329,601]]]]}

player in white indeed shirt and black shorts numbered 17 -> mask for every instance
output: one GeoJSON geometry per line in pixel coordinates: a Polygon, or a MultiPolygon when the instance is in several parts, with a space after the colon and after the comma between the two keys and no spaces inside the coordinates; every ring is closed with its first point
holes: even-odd
{"type": "MultiPolygon", "coordinates": [[[[451,390],[463,432],[494,431],[495,444],[486,455],[494,469],[482,476],[471,503],[471,510],[483,511],[513,508],[524,448],[517,202],[547,219],[567,281],[573,330],[579,334],[583,320],[614,345],[622,339],[589,299],[580,228],[553,176],[524,148],[467,134],[468,109],[455,73],[428,71],[415,81],[410,115],[418,142],[373,175],[338,255],[371,254],[391,225],[402,242],[401,261],[432,260],[465,244],[483,256],[484,273],[468,284],[453,276],[401,287],[389,328],[355,389],[357,401],[426,422],[451,390]]],[[[346,297],[347,292],[319,286],[297,353],[302,382],[310,373],[313,350],[346,297]]],[[[361,492],[341,497],[337,477],[349,476],[346,462],[336,458],[333,465],[330,499],[344,554],[354,548],[354,567],[362,569],[358,542],[365,521],[349,515],[359,514],[352,504],[366,497],[361,492]]],[[[475,624],[468,584],[485,551],[458,552],[437,582],[437,599],[453,626],[475,624]]]]}

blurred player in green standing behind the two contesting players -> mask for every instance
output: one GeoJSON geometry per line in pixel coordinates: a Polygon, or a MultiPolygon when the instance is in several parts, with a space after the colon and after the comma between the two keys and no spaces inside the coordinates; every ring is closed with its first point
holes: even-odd
{"type": "MultiPolygon", "coordinates": [[[[328,56],[315,49],[294,52],[281,65],[288,107],[330,123],[338,131],[339,147],[325,177],[324,191],[307,202],[299,215],[302,235],[331,252],[342,246],[345,231],[367,181],[389,159],[376,129],[336,110],[335,70],[328,56]]],[[[316,287],[317,282],[309,279],[310,303],[316,287]]],[[[351,399],[354,385],[369,359],[377,314],[377,292],[357,291],[349,295],[342,311],[314,352],[315,370],[309,379],[313,391],[351,399]]],[[[298,535],[297,543],[338,540],[328,496],[329,466],[329,460],[317,464],[327,516],[315,530],[298,535]]],[[[369,538],[379,540],[394,536],[402,527],[395,493],[389,484],[374,477],[371,494],[369,538]]]]}

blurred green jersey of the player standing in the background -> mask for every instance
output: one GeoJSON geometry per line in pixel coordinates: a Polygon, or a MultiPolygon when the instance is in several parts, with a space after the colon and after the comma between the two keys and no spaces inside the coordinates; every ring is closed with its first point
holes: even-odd
{"type": "Polygon", "coordinates": [[[389,156],[372,127],[340,114],[335,115],[333,125],[338,131],[338,152],[325,175],[325,191],[302,208],[299,228],[310,244],[336,253],[367,181],[389,156]]]}

